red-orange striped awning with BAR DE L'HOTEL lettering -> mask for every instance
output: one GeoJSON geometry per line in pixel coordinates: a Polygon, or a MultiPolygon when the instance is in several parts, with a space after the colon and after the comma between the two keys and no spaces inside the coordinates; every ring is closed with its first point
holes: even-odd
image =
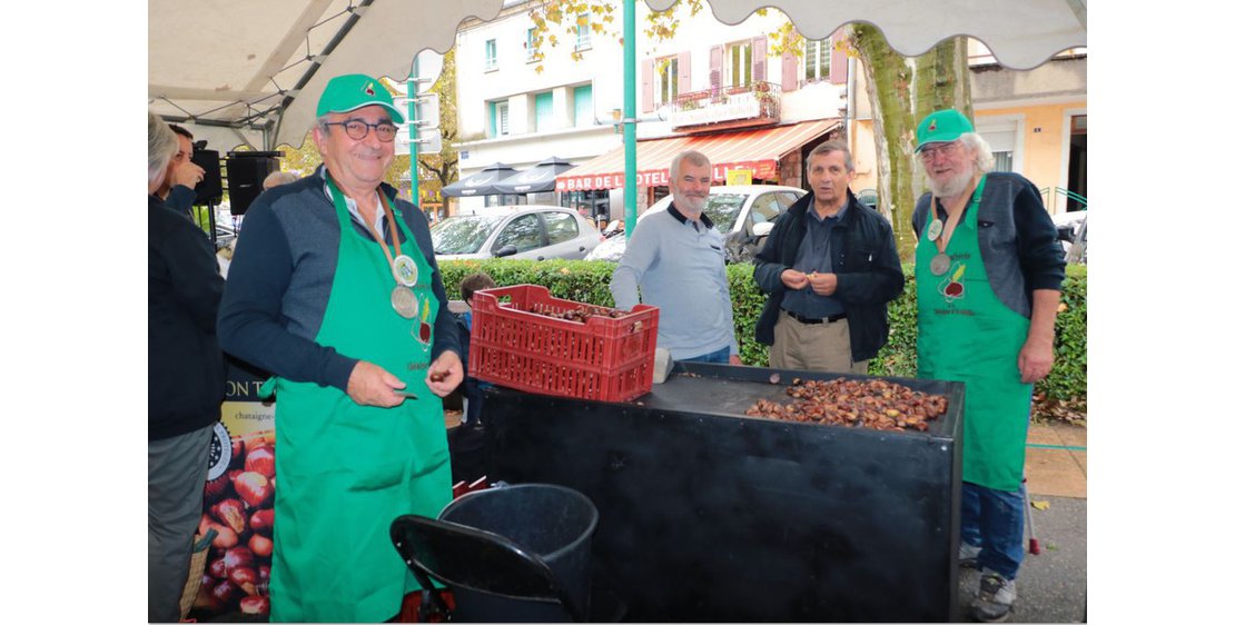
{"type": "MultiPolygon", "coordinates": [[[[636,143],[636,187],[669,184],[669,163],[685,149],[703,152],[711,161],[713,180],[724,180],[732,169],[750,169],[755,178],[774,178],[779,161],[804,143],[840,126],[840,120],[815,120],[774,128],[720,132],[645,140],[636,143]]],[[[557,177],[557,190],[618,189],[625,180],[625,147],[600,154],[568,174],[557,177]]]]}

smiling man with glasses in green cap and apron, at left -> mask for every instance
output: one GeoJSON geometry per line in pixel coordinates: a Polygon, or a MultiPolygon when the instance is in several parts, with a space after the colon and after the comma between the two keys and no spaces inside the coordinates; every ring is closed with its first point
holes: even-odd
{"type": "Polygon", "coordinates": [[[463,367],[429,222],[383,183],[403,121],[377,79],[333,78],[324,166],[257,198],[232,258],[219,341],[275,375],[272,621],[395,616],[417,587],[389,524],[451,500],[463,367]]]}

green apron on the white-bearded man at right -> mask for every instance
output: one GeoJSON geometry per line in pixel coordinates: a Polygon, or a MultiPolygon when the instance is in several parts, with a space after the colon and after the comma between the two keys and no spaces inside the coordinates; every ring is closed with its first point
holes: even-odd
{"type": "MultiPolygon", "coordinates": [[[[930,271],[935,241],[918,241],[918,377],[965,383],[965,480],[1016,490],[1034,389],[1016,366],[1029,319],[999,301],[987,278],[977,229],[984,187],[986,177],[947,242],[947,272],[930,271]]],[[[930,220],[937,219],[932,204],[930,220]]]]}

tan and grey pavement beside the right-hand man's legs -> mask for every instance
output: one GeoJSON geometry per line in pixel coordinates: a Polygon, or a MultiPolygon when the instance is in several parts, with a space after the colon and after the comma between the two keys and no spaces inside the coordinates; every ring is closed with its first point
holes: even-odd
{"type": "MultiPolygon", "coordinates": [[[[1025,477],[1040,553],[1026,550],[1016,577],[1016,603],[1007,623],[1086,620],[1086,474],[1084,427],[1030,426],[1025,477]]],[[[960,577],[961,605],[967,606],[977,594],[978,572],[962,568],[960,577]]],[[[968,619],[968,610],[962,619],[968,619]]]]}

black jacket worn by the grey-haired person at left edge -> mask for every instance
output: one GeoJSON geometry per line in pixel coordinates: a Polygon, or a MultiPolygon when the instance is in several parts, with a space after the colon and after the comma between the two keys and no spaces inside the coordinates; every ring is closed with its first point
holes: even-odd
{"type": "Polygon", "coordinates": [[[224,292],[206,233],[148,196],[149,440],[200,430],[219,420],[224,356],[215,316],[224,292]]]}

